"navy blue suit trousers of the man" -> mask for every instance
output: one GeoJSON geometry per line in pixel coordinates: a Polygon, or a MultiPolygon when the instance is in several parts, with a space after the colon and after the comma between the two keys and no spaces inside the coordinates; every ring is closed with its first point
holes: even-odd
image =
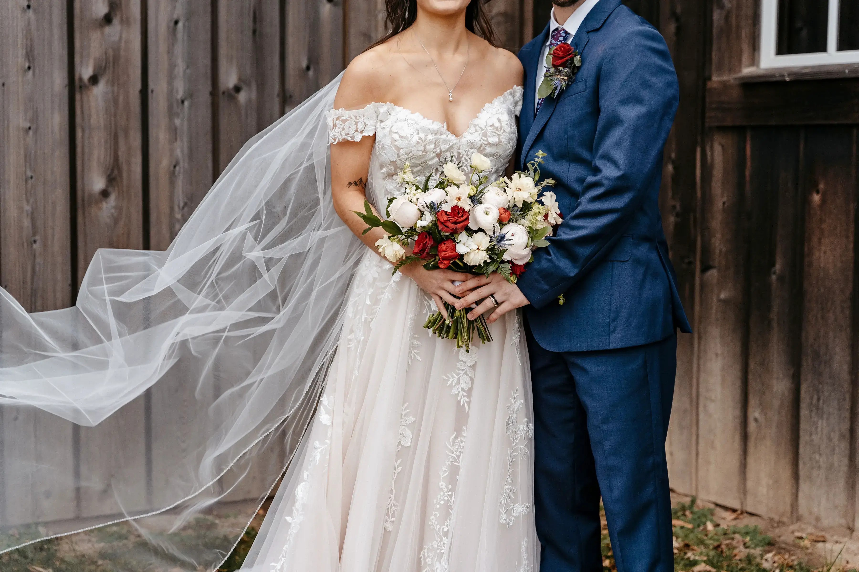
{"type": "Polygon", "coordinates": [[[665,457],[677,336],[550,352],[527,328],[540,572],[602,572],[600,496],[620,572],[673,572],[665,457]]]}

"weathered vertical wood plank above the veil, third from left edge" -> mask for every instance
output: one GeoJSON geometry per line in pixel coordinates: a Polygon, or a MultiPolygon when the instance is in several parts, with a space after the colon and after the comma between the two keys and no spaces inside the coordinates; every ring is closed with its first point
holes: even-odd
{"type": "Polygon", "coordinates": [[[149,240],[165,250],[212,184],[211,3],[149,0],[149,240]]]}

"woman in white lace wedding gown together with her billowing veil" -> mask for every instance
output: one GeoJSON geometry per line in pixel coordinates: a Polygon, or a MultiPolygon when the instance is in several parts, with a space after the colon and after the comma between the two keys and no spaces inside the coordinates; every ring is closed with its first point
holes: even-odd
{"type": "Polygon", "coordinates": [[[114,516],[83,530],[132,522],[182,569],[216,569],[229,545],[207,544],[213,560],[177,535],[243,481],[282,477],[243,569],[534,569],[519,316],[470,352],[436,338],[423,322],[467,275],[392,274],[381,229],[353,214],[365,198],[384,210],[405,166],[422,179],[478,152],[503,176],[521,64],[491,44],[484,0],[387,0],[387,18],[342,78],[247,143],[166,252],[100,250],[68,310],[27,315],[0,289],[0,405],[55,431],[4,451],[7,487],[52,500],[5,506],[0,524],[96,499],[114,516]]]}

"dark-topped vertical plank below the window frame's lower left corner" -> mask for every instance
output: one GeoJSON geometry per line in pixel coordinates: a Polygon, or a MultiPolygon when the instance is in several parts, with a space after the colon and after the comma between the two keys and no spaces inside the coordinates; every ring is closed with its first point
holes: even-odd
{"type": "Polygon", "coordinates": [[[795,518],[801,338],[799,129],[754,129],[746,509],[795,518]]]}

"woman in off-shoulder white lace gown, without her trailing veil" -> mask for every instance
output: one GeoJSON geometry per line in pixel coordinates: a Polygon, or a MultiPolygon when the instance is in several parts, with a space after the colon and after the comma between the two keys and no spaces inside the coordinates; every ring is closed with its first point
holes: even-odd
{"type": "MultiPolygon", "coordinates": [[[[514,154],[522,69],[471,32],[469,0],[387,3],[393,32],[350,63],[327,115],[334,205],[367,246],[306,441],[246,567],[531,570],[535,553],[527,350],[515,313],[457,350],[422,328],[465,274],[392,276],[362,234],[408,165],[419,180],[474,152],[500,177],[514,154]],[[415,10],[417,8],[417,10],[415,10]],[[443,162],[443,161],[442,161],[443,162]]],[[[481,20],[487,26],[487,21],[481,20]]],[[[486,28],[484,28],[486,29],[486,28]]],[[[401,191],[400,191],[401,192],[401,191]]]]}

